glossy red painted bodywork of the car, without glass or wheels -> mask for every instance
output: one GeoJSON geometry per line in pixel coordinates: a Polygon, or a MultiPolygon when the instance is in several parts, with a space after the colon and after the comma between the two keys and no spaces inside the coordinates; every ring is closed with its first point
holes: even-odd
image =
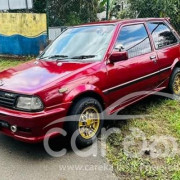
{"type": "MultiPolygon", "coordinates": [[[[23,112],[0,107],[1,121],[24,129],[30,129],[29,132],[17,131],[13,133],[10,129],[2,127],[0,131],[21,141],[40,142],[44,139],[47,130],[57,126],[57,124],[48,128],[44,127],[59,118],[65,117],[73,101],[79,96],[91,95],[100,98],[105,108],[107,108],[107,114],[112,114],[146,96],[138,97],[123,105],[108,108],[117,99],[129,93],[144,90],[160,91],[166,88],[174,67],[180,66],[180,45],[177,43],[156,50],[146,24],[148,21],[165,22],[169,25],[167,19],[157,18],[81,25],[115,25],[113,37],[102,61],[62,62],[58,66],[57,62],[33,60],[1,72],[0,80],[3,80],[4,84],[0,86],[0,90],[22,95],[36,95],[43,101],[44,110],[40,112],[23,112]],[[152,52],[125,61],[109,63],[109,57],[121,28],[139,23],[144,23],[147,28],[152,52]],[[157,62],[150,57],[154,57],[157,62]],[[148,78],[143,78],[146,76],[148,78]],[[59,89],[61,88],[67,88],[67,91],[60,93],[59,89]]],[[[179,38],[178,34],[174,33],[179,38]]],[[[64,122],[61,122],[58,127],[63,128],[63,125],[64,122]]]]}

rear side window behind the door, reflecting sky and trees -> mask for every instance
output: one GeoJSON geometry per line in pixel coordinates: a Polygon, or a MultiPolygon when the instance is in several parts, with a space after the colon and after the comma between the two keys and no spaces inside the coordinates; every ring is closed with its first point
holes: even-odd
{"type": "Polygon", "coordinates": [[[178,42],[171,29],[163,22],[149,22],[148,28],[152,34],[156,49],[161,49],[178,42]]]}

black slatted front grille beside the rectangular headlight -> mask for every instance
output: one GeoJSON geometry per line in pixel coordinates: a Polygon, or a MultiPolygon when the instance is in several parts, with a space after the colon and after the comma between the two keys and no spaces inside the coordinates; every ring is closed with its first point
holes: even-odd
{"type": "Polygon", "coordinates": [[[0,106],[14,108],[17,94],[0,91],[0,106]]]}

